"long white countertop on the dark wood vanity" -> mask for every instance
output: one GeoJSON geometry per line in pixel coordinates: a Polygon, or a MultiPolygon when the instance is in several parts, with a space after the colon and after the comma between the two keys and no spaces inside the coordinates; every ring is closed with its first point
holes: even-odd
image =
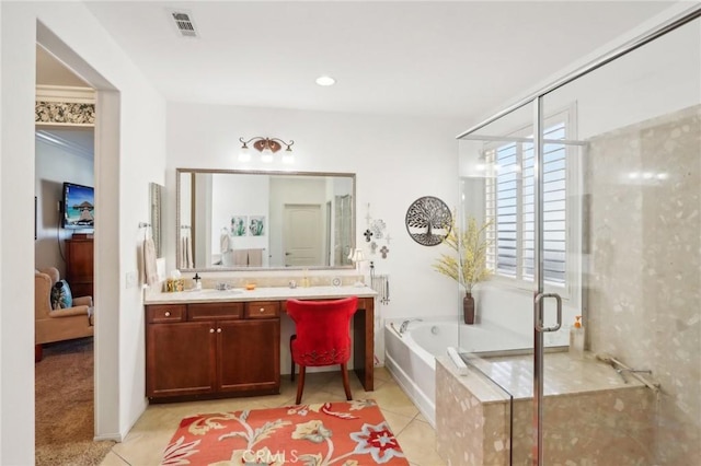
{"type": "Polygon", "coordinates": [[[177,292],[153,292],[147,290],[145,304],[186,304],[186,303],[216,303],[221,301],[279,301],[291,299],[336,299],[347,296],[374,298],[377,291],[370,287],[273,287],[245,290],[234,288],[231,290],[186,290],[177,292]]]}

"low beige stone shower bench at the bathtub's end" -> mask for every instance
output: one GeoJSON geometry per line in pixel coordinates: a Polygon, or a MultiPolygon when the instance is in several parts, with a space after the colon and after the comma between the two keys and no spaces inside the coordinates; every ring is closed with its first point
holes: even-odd
{"type": "MultiPolygon", "coordinates": [[[[508,465],[509,456],[532,464],[532,356],[472,362],[491,380],[474,368],[459,375],[450,359],[436,359],[436,450],[452,465],[508,465]]],[[[590,353],[549,353],[544,363],[547,464],[654,464],[653,391],[632,377],[624,383],[590,353]]]]}

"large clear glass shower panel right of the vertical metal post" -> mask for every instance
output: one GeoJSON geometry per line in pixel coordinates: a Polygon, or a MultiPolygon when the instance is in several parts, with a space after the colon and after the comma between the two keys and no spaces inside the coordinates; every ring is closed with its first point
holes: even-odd
{"type": "Polygon", "coordinates": [[[554,268],[586,349],[562,366],[544,354],[542,464],[701,457],[700,21],[542,96],[543,118],[570,115],[562,144],[540,131],[544,167],[562,150],[564,170],[542,180],[543,278],[562,231],[554,268]],[[561,187],[564,215],[549,218],[561,187]]]}

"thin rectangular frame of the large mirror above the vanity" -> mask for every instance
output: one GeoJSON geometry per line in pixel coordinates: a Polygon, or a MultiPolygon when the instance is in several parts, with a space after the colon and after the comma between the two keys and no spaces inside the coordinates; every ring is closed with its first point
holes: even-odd
{"type": "MultiPolygon", "coordinates": [[[[353,212],[350,219],[350,251],[356,247],[356,174],[355,173],[337,173],[337,172],[291,172],[291,171],[271,171],[271,170],[219,170],[219,168],[175,168],[175,263],[181,255],[181,174],[184,173],[209,173],[209,174],[231,174],[231,175],[268,175],[268,176],[317,176],[317,177],[344,177],[353,180],[353,201],[350,210],[353,212]]],[[[193,194],[194,196],[194,194],[193,194]]],[[[191,199],[191,205],[194,199],[191,199]]],[[[191,226],[192,229],[192,226],[191,226]]],[[[192,230],[191,230],[192,235],[192,230]]],[[[193,267],[183,268],[181,271],[188,272],[212,272],[212,271],[265,271],[265,270],[348,270],[355,269],[354,265],[346,266],[306,266],[306,267],[193,267]]]]}

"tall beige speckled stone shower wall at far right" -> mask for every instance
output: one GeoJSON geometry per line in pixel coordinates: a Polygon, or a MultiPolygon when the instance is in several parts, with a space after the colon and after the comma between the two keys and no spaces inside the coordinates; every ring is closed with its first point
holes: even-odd
{"type": "Polygon", "coordinates": [[[701,106],[593,138],[585,160],[589,348],[651,369],[660,383],[650,464],[697,464],[701,106]]]}

